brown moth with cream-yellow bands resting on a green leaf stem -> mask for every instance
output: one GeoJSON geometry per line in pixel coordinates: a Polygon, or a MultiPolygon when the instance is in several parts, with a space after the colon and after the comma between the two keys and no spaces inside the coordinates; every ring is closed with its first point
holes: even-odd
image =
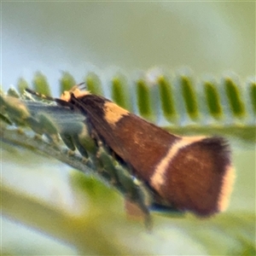
{"type": "Polygon", "coordinates": [[[91,137],[125,163],[132,177],[143,181],[156,205],[200,217],[225,210],[234,168],[223,137],[174,135],[105,97],[79,90],[79,85],[61,98],[44,97],[82,113],[91,137]]]}

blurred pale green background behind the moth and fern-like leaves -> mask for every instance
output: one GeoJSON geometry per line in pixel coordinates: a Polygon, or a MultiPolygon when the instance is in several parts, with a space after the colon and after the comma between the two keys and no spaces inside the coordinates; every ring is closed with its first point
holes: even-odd
{"type": "MultiPolygon", "coordinates": [[[[196,79],[255,75],[253,2],[1,2],[7,90],[44,73],[55,96],[68,71],[137,78],[189,67],[196,79]]],[[[245,124],[246,125],[246,124],[245,124]]],[[[154,214],[154,230],[125,217],[123,199],[90,177],[25,149],[1,150],[2,252],[10,255],[253,255],[255,144],[229,137],[236,166],[230,208],[216,218],[154,214]]]]}

